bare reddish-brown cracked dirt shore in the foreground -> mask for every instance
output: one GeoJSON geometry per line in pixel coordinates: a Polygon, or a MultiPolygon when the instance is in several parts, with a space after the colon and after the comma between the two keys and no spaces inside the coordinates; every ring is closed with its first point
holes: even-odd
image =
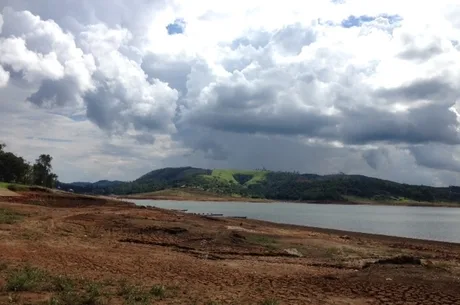
{"type": "Polygon", "coordinates": [[[8,289],[26,265],[99,283],[100,304],[460,304],[460,244],[49,194],[4,197],[2,211],[20,216],[0,221],[0,304],[64,304],[56,289],[8,289]],[[378,263],[402,255],[414,261],[378,263]],[[171,293],[130,298],[121,283],[171,293]]]}

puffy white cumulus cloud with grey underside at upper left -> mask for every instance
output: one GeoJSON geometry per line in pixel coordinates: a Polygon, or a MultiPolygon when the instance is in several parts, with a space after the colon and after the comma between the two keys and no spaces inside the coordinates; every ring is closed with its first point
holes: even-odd
{"type": "Polygon", "coordinates": [[[177,92],[157,79],[149,82],[140,65],[123,54],[132,38],[127,29],[98,24],[72,34],[52,20],[11,8],[3,10],[3,19],[0,63],[36,88],[28,101],[84,107],[88,118],[110,133],[174,130],[177,92]]]}

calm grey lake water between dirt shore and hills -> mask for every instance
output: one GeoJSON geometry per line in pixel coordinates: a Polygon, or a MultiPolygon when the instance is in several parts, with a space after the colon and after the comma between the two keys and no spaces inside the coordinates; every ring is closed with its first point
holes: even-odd
{"type": "Polygon", "coordinates": [[[460,208],[132,200],[137,205],[460,243],[460,208]]]}

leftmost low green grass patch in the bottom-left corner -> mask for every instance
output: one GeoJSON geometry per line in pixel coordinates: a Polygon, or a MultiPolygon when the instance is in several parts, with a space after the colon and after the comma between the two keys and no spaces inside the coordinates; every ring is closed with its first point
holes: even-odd
{"type": "Polygon", "coordinates": [[[46,272],[26,266],[8,275],[5,288],[14,292],[46,290],[49,278],[46,272]]]}

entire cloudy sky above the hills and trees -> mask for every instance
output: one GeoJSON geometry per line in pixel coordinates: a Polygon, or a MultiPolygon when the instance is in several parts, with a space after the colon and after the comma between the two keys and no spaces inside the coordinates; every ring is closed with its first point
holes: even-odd
{"type": "Polygon", "coordinates": [[[457,0],[0,0],[0,142],[63,182],[459,185],[459,39],[457,0]]]}

